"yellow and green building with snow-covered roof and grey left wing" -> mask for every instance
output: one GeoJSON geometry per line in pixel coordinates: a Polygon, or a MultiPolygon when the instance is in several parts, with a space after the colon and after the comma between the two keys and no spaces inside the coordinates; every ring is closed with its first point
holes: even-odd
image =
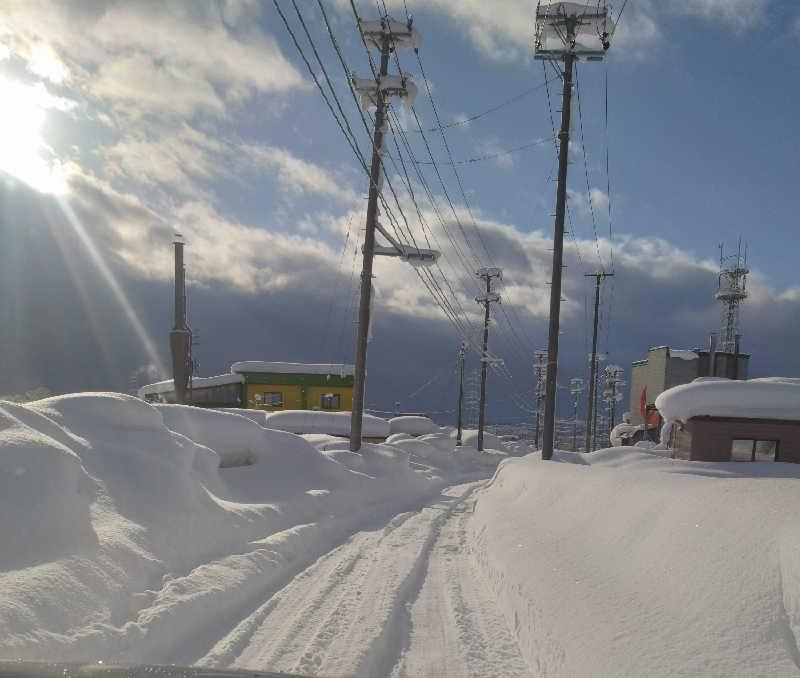
{"type": "MultiPolygon", "coordinates": [[[[352,410],[353,365],[246,361],[230,374],[192,377],[186,404],[250,410],[352,410]]],[[[177,403],[172,379],[139,389],[147,402],[177,403]]]]}

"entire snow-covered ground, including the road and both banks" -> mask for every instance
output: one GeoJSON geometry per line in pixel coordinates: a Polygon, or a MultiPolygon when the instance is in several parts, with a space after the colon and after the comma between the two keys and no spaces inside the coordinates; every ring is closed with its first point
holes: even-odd
{"type": "Polygon", "coordinates": [[[265,423],[120,394],[0,403],[0,659],[800,674],[800,465],[545,462],[451,429],[354,454],[265,423]]]}

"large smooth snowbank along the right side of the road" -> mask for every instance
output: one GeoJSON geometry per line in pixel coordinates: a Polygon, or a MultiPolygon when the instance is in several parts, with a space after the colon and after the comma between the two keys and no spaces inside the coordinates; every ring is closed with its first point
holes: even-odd
{"type": "Polygon", "coordinates": [[[800,465],[632,447],[509,459],[468,538],[554,677],[797,675],[800,465]]]}

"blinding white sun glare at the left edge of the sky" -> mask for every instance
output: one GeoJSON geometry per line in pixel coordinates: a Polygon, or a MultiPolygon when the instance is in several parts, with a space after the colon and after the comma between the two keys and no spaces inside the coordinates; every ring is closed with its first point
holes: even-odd
{"type": "Polygon", "coordinates": [[[63,108],[63,100],[41,83],[0,78],[0,171],[37,191],[60,195],[67,190],[67,172],[42,137],[48,108],[63,108]]]}

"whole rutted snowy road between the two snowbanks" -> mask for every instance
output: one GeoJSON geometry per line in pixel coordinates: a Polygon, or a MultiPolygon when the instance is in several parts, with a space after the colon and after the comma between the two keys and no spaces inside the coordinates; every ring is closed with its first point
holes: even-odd
{"type": "Polygon", "coordinates": [[[473,569],[473,493],[359,532],[299,573],[197,663],[325,676],[530,675],[473,569]]]}

